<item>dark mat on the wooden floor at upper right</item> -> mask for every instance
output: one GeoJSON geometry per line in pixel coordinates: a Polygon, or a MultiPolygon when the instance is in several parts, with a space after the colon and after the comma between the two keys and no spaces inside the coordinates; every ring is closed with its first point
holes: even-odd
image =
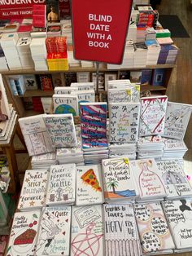
{"type": "Polygon", "coordinates": [[[190,38],[177,15],[159,15],[159,23],[171,31],[172,38],[190,38]]]}

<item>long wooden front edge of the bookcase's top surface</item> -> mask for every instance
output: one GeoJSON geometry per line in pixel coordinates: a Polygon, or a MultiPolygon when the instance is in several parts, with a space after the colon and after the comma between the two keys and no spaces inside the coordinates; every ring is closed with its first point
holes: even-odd
{"type": "MultiPolygon", "coordinates": [[[[154,69],[154,68],[174,68],[175,64],[157,64],[157,65],[148,65],[146,67],[141,68],[111,68],[107,69],[107,65],[104,64],[103,68],[99,68],[99,72],[117,72],[117,71],[124,71],[124,70],[142,70],[142,69],[154,69]]],[[[3,75],[15,75],[15,74],[29,74],[29,73],[70,73],[70,72],[96,72],[96,68],[81,68],[81,67],[75,67],[75,68],[69,68],[68,70],[55,70],[55,71],[37,71],[33,69],[21,69],[21,70],[10,70],[10,71],[2,71],[1,73],[3,75]]]]}

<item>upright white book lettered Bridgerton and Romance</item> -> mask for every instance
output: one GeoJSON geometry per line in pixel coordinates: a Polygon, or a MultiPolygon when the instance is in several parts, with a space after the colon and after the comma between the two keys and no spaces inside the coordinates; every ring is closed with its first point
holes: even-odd
{"type": "Polygon", "coordinates": [[[77,146],[72,114],[45,115],[43,120],[53,148],[72,148],[77,146]]]}

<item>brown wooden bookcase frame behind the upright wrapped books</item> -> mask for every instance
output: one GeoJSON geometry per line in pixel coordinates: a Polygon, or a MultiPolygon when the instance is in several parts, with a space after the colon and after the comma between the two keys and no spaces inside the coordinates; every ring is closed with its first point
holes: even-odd
{"type": "MultiPolygon", "coordinates": [[[[159,93],[161,95],[166,94],[166,90],[168,87],[169,78],[171,77],[172,68],[175,68],[175,64],[157,64],[157,65],[147,65],[144,68],[120,68],[120,69],[107,69],[107,64],[102,64],[102,67],[99,68],[99,73],[116,73],[117,79],[120,79],[120,72],[121,71],[140,71],[144,69],[154,69],[154,68],[166,68],[166,75],[165,75],[165,82],[164,86],[151,86],[151,85],[142,85],[141,90],[150,90],[151,94],[154,95],[156,93],[159,93]]],[[[24,108],[24,102],[23,98],[26,97],[51,97],[54,94],[54,91],[44,91],[41,89],[37,90],[26,90],[24,92],[24,95],[20,96],[14,96],[11,94],[11,89],[8,85],[6,77],[9,75],[24,75],[24,74],[54,74],[54,73],[77,73],[77,72],[89,72],[89,73],[96,73],[96,68],[69,68],[68,70],[56,70],[56,71],[37,71],[33,69],[26,69],[26,70],[10,70],[10,71],[2,71],[2,77],[4,80],[4,83],[7,87],[7,92],[9,95],[9,98],[11,99],[11,102],[15,104],[15,108],[17,110],[17,113],[20,115],[20,117],[28,117],[36,114],[40,114],[39,112],[36,112],[34,110],[25,110],[24,108]]],[[[99,100],[105,100],[107,96],[106,90],[99,90],[99,100]]]]}

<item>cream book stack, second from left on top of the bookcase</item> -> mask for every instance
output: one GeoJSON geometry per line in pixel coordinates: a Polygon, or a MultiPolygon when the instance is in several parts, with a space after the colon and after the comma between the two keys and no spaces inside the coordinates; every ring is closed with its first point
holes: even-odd
{"type": "Polygon", "coordinates": [[[17,51],[20,55],[20,63],[23,69],[33,69],[34,63],[30,51],[31,38],[20,38],[17,42],[17,51]]]}

